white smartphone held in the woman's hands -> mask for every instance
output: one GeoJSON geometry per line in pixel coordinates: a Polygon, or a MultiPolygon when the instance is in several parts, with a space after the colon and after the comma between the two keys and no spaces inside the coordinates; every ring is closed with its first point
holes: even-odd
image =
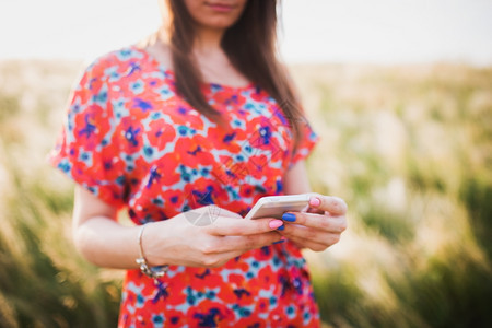
{"type": "Polygon", "coordinates": [[[309,197],[311,194],[261,197],[244,219],[282,219],[285,212],[301,212],[306,209],[309,197]]]}

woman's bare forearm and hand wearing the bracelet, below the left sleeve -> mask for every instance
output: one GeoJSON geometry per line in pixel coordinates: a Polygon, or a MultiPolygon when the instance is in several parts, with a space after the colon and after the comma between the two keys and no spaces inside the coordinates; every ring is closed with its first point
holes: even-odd
{"type": "MultiPolygon", "coordinates": [[[[207,208],[194,211],[201,213],[207,208]]],[[[142,236],[142,248],[150,266],[220,267],[245,251],[280,241],[276,231],[280,225],[280,220],[243,220],[236,213],[220,209],[212,224],[196,226],[181,213],[149,224],[142,236]]],[[[115,208],[77,187],[74,243],[91,262],[109,268],[137,268],[140,229],[119,224],[115,208]]]]}

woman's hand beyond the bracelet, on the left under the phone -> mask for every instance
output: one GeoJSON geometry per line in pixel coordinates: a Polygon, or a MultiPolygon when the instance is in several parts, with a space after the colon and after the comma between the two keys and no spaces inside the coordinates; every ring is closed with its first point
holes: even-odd
{"type": "Polygon", "coordinates": [[[180,213],[169,220],[149,223],[142,248],[150,266],[180,265],[221,267],[243,253],[279,242],[277,219],[244,220],[215,206],[180,213]],[[192,224],[192,218],[209,215],[208,225],[192,224]]]}

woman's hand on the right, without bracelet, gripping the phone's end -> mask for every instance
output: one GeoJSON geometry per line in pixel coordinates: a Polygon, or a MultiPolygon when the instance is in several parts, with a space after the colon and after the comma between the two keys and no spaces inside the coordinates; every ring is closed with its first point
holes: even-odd
{"type": "Polygon", "coordinates": [[[331,196],[314,194],[306,212],[288,212],[279,233],[300,248],[321,251],[337,244],[347,229],[347,203],[331,196]]]}

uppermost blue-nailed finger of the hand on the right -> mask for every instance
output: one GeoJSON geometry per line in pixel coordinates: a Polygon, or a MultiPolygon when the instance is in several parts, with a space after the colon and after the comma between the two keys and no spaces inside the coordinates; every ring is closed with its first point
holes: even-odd
{"type": "Polygon", "coordinates": [[[347,230],[345,216],[329,216],[306,212],[289,212],[282,215],[282,220],[331,233],[342,233],[347,230]]]}

